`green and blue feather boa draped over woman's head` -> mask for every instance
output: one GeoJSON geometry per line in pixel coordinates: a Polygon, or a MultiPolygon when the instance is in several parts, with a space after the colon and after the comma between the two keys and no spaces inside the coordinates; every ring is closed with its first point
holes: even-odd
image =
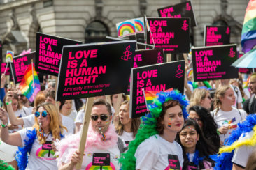
{"type": "Polygon", "coordinates": [[[136,149],[143,141],[145,141],[145,139],[157,134],[157,118],[161,114],[162,105],[168,100],[176,100],[180,102],[180,105],[183,106],[183,117],[185,119],[187,118],[188,114],[186,107],[188,102],[185,100],[185,95],[181,95],[177,90],[157,93],[157,98],[154,99],[154,102],[151,105],[148,105],[150,114],[143,117],[143,124],[141,124],[134,141],[130,141],[129,143],[129,150],[127,150],[127,153],[123,153],[120,157],[119,162],[122,164],[122,170],[135,169],[136,157],[134,157],[134,154],[136,149]]]}

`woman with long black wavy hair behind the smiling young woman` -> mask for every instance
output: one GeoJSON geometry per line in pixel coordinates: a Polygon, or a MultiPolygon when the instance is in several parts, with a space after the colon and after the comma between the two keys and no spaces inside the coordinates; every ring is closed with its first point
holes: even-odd
{"type": "Polygon", "coordinates": [[[220,148],[220,137],[217,133],[217,124],[215,123],[213,116],[210,112],[201,106],[193,106],[188,109],[189,118],[197,121],[201,131],[204,134],[204,137],[208,142],[214,144],[215,153],[218,153],[220,148]]]}

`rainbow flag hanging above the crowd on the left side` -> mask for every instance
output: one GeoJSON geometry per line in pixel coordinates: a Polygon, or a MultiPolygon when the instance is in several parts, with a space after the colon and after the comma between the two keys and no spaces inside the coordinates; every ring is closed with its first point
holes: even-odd
{"type": "Polygon", "coordinates": [[[20,91],[25,95],[29,102],[33,102],[36,94],[40,91],[40,82],[34,67],[34,63],[31,63],[24,72],[22,82],[20,82],[20,91]],[[32,65],[33,64],[33,65],[32,65]],[[32,71],[33,68],[33,71],[32,71]],[[34,74],[32,74],[32,72],[34,74]],[[34,84],[33,84],[34,75],[34,84]]]}

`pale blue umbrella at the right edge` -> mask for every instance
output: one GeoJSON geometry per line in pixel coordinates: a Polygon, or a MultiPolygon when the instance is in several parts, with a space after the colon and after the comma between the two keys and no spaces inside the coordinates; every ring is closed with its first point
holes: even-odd
{"type": "Polygon", "coordinates": [[[232,63],[236,68],[256,68],[256,49],[252,49],[232,63]]]}

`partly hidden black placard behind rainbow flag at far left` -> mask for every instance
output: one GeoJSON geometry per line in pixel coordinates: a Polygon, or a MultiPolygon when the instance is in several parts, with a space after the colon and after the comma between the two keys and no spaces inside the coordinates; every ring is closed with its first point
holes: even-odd
{"type": "Polygon", "coordinates": [[[15,84],[20,83],[22,81],[25,70],[27,69],[29,64],[31,64],[32,59],[34,63],[35,56],[36,52],[31,52],[29,54],[24,54],[22,56],[13,57],[13,63],[9,64],[15,84]]]}

